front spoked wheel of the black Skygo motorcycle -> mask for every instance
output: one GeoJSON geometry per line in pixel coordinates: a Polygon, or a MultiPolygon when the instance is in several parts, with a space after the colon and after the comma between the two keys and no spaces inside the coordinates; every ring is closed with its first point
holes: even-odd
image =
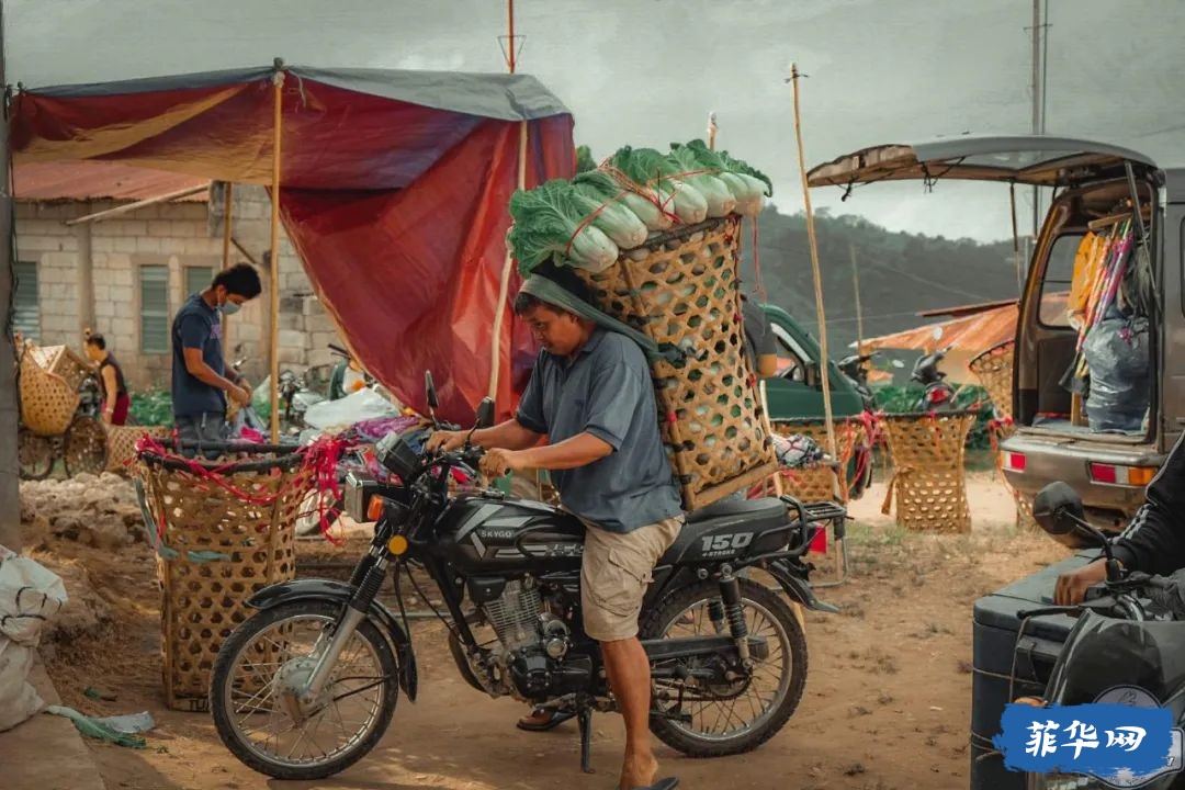
{"type": "Polygon", "coordinates": [[[370,621],[346,643],[321,694],[300,695],[340,611],[327,600],[293,600],[255,615],[223,643],[210,709],[218,736],[248,767],[277,779],[325,778],[361,759],[386,731],[397,664],[370,621]]]}

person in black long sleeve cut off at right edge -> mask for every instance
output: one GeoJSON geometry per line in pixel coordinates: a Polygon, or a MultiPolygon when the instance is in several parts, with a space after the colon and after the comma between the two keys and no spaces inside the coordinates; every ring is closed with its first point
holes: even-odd
{"type": "MultiPolygon", "coordinates": [[[[1112,539],[1115,559],[1127,571],[1167,576],[1185,569],[1185,435],[1177,439],[1157,476],[1145,489],[1146,502],[1127,528],[1112,539]]],[[[1053,603],[1082,603],[1087,589],[1106,580],[1102,558],[1058,577],[1053,603]]]]}

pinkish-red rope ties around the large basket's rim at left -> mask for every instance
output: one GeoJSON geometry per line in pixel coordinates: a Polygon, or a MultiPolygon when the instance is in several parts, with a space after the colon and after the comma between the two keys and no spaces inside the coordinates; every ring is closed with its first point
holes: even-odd
{"type": "MultiPolygon", "coordinates": [[[[274,493],[270,494],[252,494],[229,482],[226,480],[228,473],[238,465],[235,462],[214,467],[206,465],[198,462],[196,458],[186,458],[181,455],[169,452],[165,449],[164,444],[156,439],[156,437],[150,435],[141,436],[136,441],[136,454],[141,455],[147,452],[178,463],[194,477],[218,486],[241,502],[258,507],[270,507],[281,499],[296,492],[299,487],[303,486],[302,481],[307,474],[312,479],[315,490],[321,493],[321,496],[318,497],[318,514],[321,521],[321,534],[329,542],[340,545],[341,540],[334,538],[329,533],[329,519],[327,515],[328,508],[325,506],[325,502],[331,495],[334,499],[341,497],[341,489],[338,486],[337,476],[338,460],[341,457],[341,452],[344,450],[353,447],[354,444],[356,442],[344,439],[340,436],[322,436],[316,438],[314,442],[296,449],[294,454],[301,456],[301,463],[297,473],[292,475],[283,486],[280,486],[274,493]]],[[[156,538],[160,541],[165,538],[166,525],[167,521],[165,519],[165,514],[161,513],[156,519],[156,538]]]]}

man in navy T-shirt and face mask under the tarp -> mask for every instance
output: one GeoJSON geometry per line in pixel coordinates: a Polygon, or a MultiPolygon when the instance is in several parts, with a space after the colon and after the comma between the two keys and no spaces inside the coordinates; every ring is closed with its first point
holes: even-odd
{"type": "Polygon", "coordinates": [[[173,419],[182,442],[226,441],[226,398],[250,402],[239,375],[230,371],[228,378],[222,316],[238,313],[262,291],[258,272],[239,263],[190,296],[173,319],[173,419]]]}

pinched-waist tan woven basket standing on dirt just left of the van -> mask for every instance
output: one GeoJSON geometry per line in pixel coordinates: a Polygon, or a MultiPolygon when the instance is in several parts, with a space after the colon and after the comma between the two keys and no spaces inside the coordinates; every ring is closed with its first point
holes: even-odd
{"type": "Polygon", "coordinates": [[[883,512],[896,495],[897,524],[917,532],[971,532],[963,447],[975,412],[884,415],[892,463],[883,512]]]}

